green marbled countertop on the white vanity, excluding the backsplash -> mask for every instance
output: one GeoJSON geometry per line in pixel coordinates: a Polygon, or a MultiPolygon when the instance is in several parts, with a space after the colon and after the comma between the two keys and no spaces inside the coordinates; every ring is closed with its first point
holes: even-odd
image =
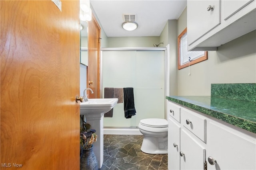
{"type": "Polygon", "coordinates": [[[214,96],[166,96],[166,99],[256,133],[256,103],[214,96]]]}

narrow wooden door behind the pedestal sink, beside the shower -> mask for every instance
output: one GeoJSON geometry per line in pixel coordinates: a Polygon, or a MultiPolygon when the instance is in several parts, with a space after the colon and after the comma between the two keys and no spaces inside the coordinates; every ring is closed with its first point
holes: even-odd
{"type": "Polygon", "coordinates": [[[100,98],[100,25],[93,15],[92,20],[88,21],[87,87],[94,92],[91,94],[87,91],[89,98],[100,98]]]}

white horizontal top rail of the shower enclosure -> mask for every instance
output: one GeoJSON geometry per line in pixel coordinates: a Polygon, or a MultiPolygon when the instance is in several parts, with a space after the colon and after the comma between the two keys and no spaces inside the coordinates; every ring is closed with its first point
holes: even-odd
{"type": "Polygon", "coordinates": [[[115,47],[101,48],[101,51],[165,51],[166,47],[115,47]]]}

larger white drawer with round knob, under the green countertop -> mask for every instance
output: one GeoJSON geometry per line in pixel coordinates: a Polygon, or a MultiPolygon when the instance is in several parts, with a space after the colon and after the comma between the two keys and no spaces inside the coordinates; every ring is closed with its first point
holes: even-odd
{"type": "Polygon", "coordinates": [[[182,108],[181,124],[206,143],[206,119],[198,113],[182,108]]]}

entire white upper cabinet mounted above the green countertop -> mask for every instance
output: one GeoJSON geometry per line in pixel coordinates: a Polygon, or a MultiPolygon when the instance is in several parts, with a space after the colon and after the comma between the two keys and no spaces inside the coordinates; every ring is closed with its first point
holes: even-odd
{"type": "Polygon", "coordinates": [[[189,51],[217,50],[222,44],[256,29],[256,0],[189,0],[189,51]]]}

